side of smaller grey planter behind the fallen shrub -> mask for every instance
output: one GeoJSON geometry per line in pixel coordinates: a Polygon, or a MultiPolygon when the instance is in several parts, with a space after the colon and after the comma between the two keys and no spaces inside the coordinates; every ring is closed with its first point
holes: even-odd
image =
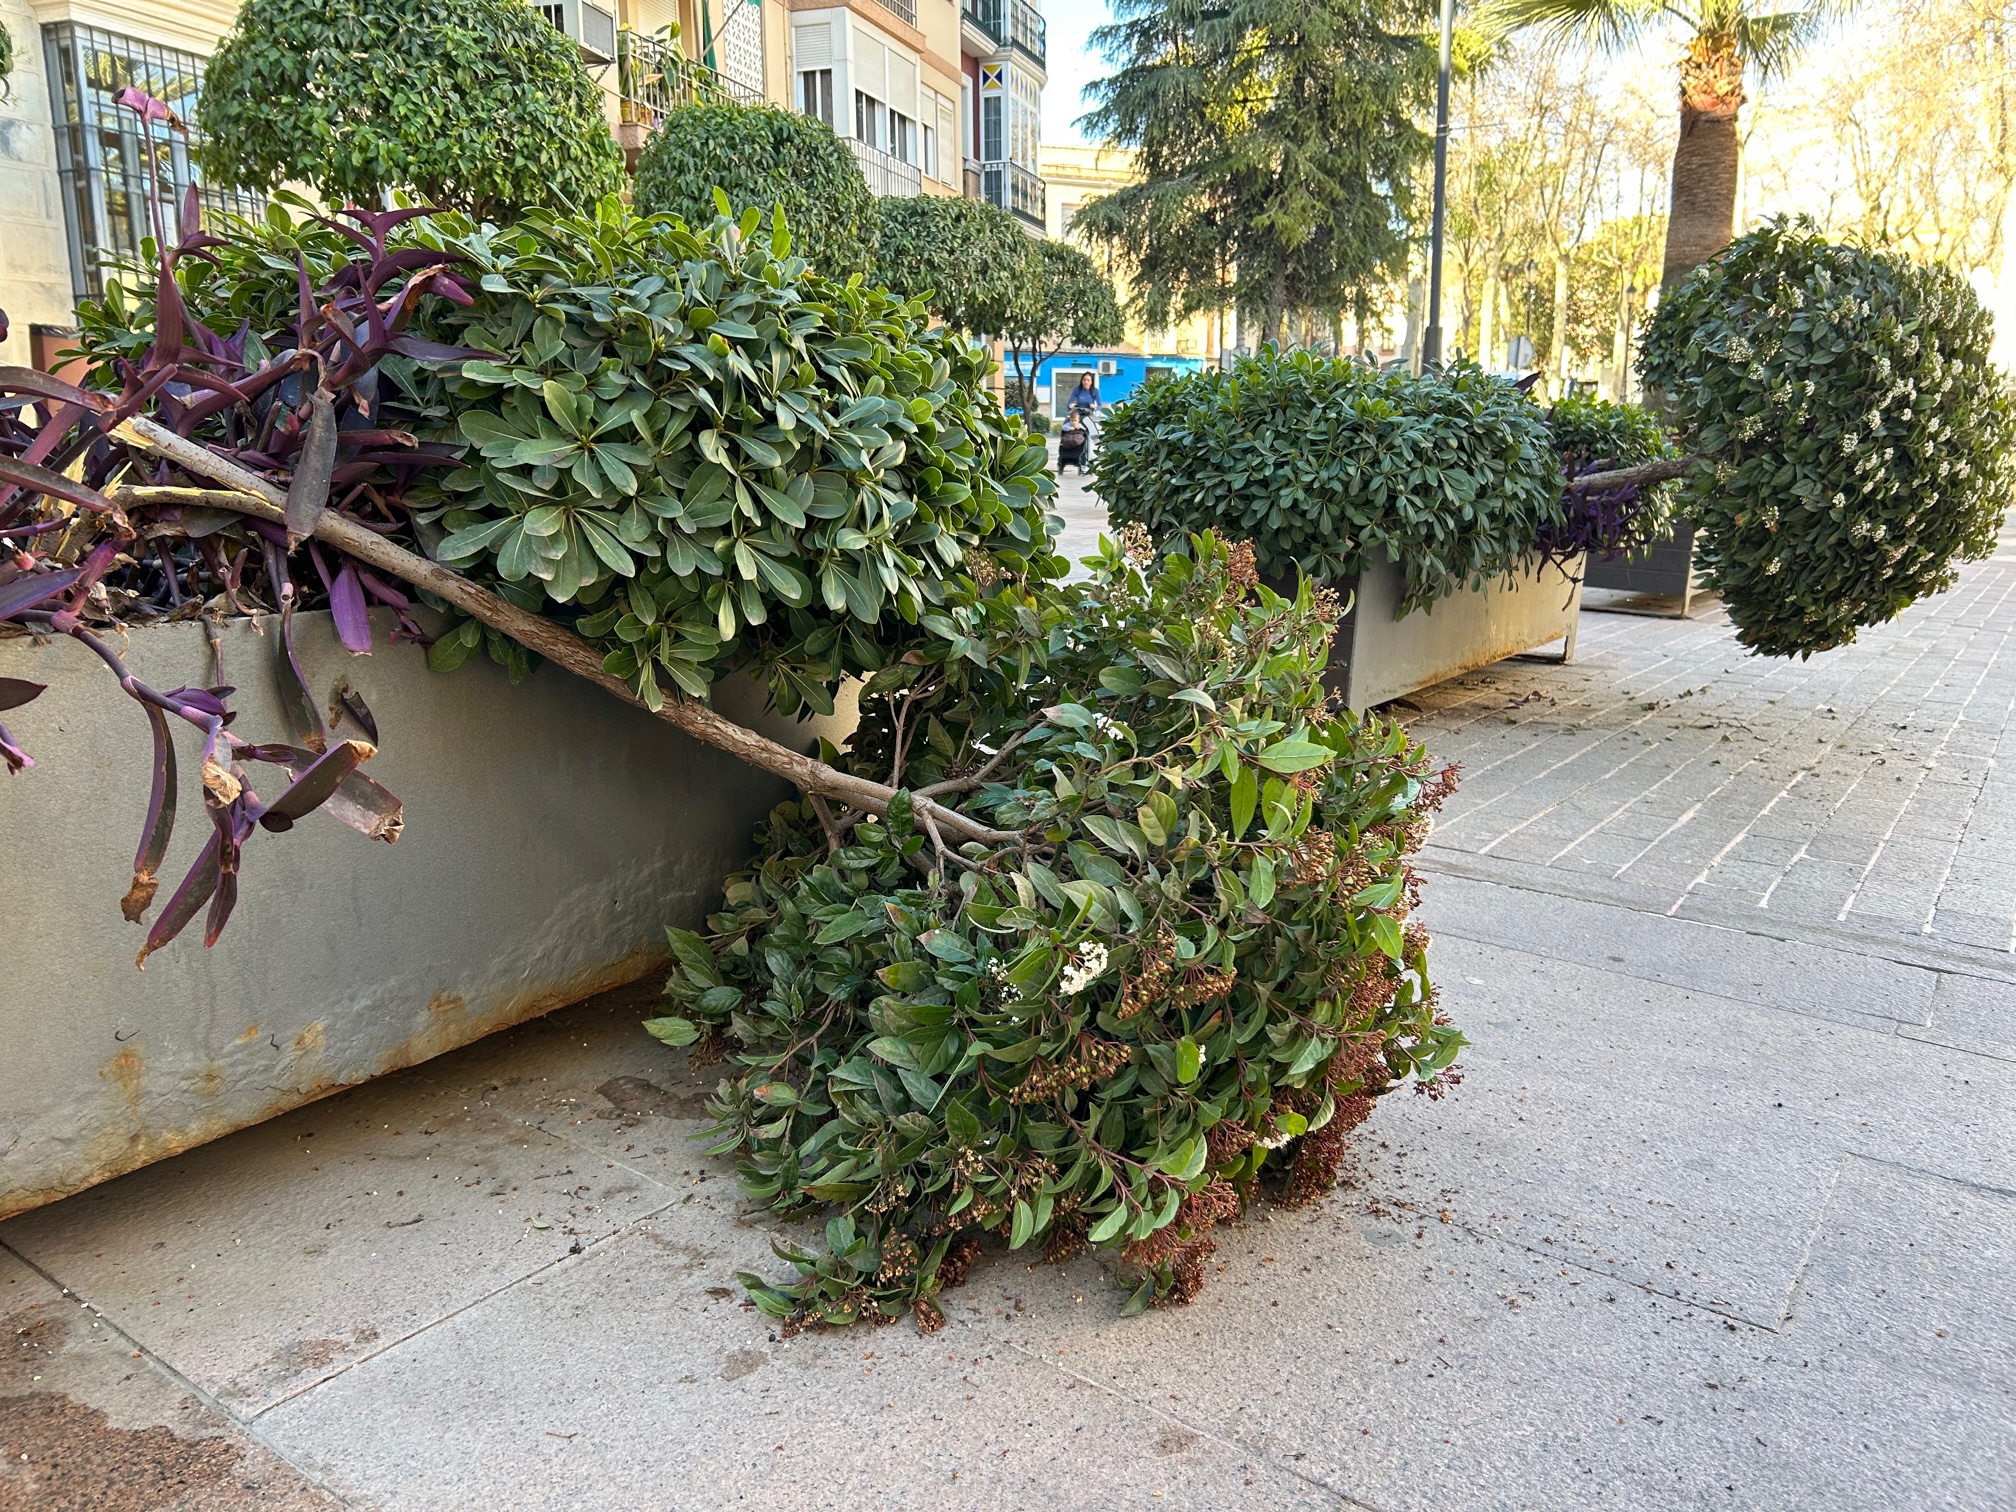
{"type": "Polygon", "coordinates": [[[1375,704],[1460,677],[1492,661],[1562,641],[1574,657],[1583,587],[1581,560],[1528,566],[1482,589],[1460,589],[1427,609],[1395,617],[1407,583],[1397,562],[1381,562],[1335,587],[1351,595],[1351,613],[1331,641],[1322,685],[1363,714],[1375,704]]]}

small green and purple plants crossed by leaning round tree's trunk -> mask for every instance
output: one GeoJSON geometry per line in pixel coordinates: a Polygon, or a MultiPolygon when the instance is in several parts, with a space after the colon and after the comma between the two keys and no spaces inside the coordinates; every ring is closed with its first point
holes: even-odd
{"type": "MultiPolygon", "coordinates": [[[[1677,458],[1659,419],[1639,405],[1570,395],[1546,411],[1546,433],[1566,478],[1677,458]]],[[[1560,524],[1540,530],[1550,560],[1621,556],[1661,540],[1673,526],[1675,484],[1562,490],[1560,524]]]]}

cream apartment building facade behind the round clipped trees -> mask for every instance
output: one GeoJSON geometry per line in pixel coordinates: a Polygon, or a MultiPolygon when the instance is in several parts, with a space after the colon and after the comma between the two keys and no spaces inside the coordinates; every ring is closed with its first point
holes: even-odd
{"type": "MultiPolygon", "coordinates": [[[[1028,0],[532,4],[579,44],[629,153],[696,89],[770,101],[827,121],[877,194],[988,198],[1042,232],[1044,40],[1028,0]],[[700,67],[663,67],[671,50],[700,67]]],[[[155,216],[173,232],[200,179],[192,143],[113,97],[137,85],[194,121],[236,12],[236,0],[0,0],[16,52],[0,97],[0,363],[46,363],[103,262],[137,254],[155,216]]],[[[202,194],[212,212],[258,208],[202,194]]]]}

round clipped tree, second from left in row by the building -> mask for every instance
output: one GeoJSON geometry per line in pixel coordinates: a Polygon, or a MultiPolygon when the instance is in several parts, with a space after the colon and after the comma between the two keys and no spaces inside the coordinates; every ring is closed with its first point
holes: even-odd
{"type": "Polygon", "coordinates": [[[714,220],[714,192],[732,214],[784,210],[798,256],[829,278],[875,266],[879,216],[861,165],[833,127],[774,105],[681,105],[665,113],[637,159],[633,202],[689,226],[714,220]]]}

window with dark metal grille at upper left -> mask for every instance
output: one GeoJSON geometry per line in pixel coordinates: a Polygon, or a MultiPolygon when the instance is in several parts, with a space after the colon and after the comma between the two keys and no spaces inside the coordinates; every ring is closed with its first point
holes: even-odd
{"type": "MultiPolygon", "coordinates": [[[[204,60],[75,22],[44,26],[42,50],[56,115],[71,288],[87,298],[105,290],[105,264],[137,258],[141,240],[157,228],[179,238],[181,196],[198,183],[190,161],[194,125],[185,133],[167,121],[141,121],[113,97],[133,85],[194,123],[204,60]]],[[[202,202],[212,216],[256,216],[264,206],[260,196],[210,187],[202,190],[202,202]]]]}

